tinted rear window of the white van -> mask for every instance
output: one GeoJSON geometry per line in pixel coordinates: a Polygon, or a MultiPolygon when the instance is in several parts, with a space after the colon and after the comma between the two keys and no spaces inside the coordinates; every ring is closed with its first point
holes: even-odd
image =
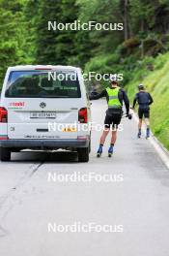
{"type": "Polygon", "coordinates": [[[13,71],[8,80],[9,98],[80,98],[75,72],[13,71]]]}

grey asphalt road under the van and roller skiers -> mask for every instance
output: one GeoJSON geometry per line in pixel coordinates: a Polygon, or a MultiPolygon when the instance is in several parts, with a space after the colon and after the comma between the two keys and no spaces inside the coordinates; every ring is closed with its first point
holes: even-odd
{"type": "MultiPolygon", "coordinates": [[[[103,100],[93,102],[93,121],[102,123],[105,107],[103,100]]],[[[149,141],[137,140],[134,120],[123,119],[123,128],[111,159],[108,142],[96,158],[100,133],[94,131],[89,163],[69,152],[14,153],[10,163],[0,163],[0,255],[169,255],[169,171],[149,141]],[[121,179],[48,180],[74,172],[121,179]],[[121,225],[123,232],[48,230],[73,223],[121,225]]]]}

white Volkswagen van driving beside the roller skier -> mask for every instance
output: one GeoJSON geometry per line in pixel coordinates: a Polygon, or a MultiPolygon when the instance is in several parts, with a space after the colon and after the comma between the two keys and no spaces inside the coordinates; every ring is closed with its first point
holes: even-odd
{"type": "Polygon", "coordinates": [[[13,151],[64,148],[89,161],[90,102],[79,68],[8,69],[0,99],[0,159],[13,151]],[[87,128],[88,127],[88,128],[87,128]]]}

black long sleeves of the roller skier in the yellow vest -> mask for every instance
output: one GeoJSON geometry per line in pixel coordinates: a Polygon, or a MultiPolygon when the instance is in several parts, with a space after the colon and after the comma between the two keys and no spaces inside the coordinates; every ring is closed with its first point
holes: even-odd
{"type": "MultiPolygon", "coordinates": [[[[102,97],[106,97],[106,100],[108,103],[109,97],[108,97],[106,89],[102,90],[101,93],[99,93],[98,95],[90,96],[89,99],[90,100],[98,100],[102,97]]],[[[123,102],[125,102],[125,106],[126,106],[127,113],[128,113],[129,112],[129,100],[128,100],[126,91],[124,89],[120,88],[118,97],[119,97],[119,101],[121,102],[122,105],[123,105],[123,102]]]]}

